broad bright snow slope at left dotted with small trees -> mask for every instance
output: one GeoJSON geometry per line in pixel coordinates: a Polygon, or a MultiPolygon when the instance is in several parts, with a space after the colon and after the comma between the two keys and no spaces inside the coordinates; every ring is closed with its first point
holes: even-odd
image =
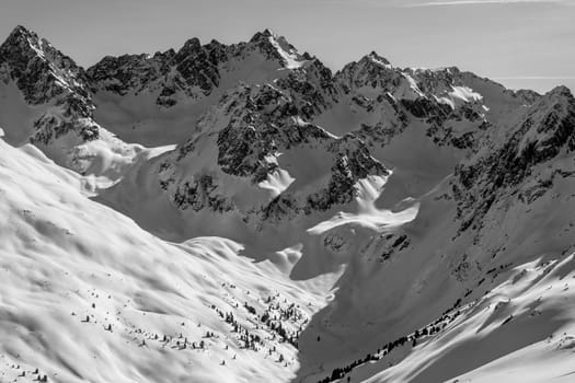
{"type": "Polygon", "coordinates": [[[0,178],[1,381],[272,382],[298,369],[297,333],[333,277],[289,281],[225,239],[158,240],[32,146],[0,141],[0,178]]]}

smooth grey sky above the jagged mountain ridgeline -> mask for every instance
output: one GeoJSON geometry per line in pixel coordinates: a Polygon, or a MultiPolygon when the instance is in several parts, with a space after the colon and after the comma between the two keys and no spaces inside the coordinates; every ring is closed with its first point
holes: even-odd
{"type": "Polygon", "coordinates": [[[400,67],[575,90],[575,0],[0,0],[0,39],[18,24],[84,67],[268,27],[334,70],[376,50],[400,67]]]}

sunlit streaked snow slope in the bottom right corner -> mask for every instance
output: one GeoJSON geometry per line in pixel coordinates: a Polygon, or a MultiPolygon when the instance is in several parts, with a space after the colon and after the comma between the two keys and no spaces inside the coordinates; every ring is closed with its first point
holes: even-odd
{"type": "Polygon", "coordinates": [[[574,258],[571,248],[491,271],[481,283],[483,297],[418,328],[415,341],[410,333],[391,352],[381,347],[348,376],[370,383],[572,382],[574,258]]]}

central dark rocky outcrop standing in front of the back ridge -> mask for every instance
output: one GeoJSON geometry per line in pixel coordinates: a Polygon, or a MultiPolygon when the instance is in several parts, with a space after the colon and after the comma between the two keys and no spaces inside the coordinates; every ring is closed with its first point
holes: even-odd
{"type": "MultiPolygon", "coordinates": [[[[326,185],[303,194],[299,190],[281,194],[242,212],[245,216],[255,212],[262,220],[272,217],[281,220],[295,213],[309,214],[348,204],[355,196],[357,181],[368,175],[388,174],[360,139],[354,135],[335,137],[303,121],[299,112],[286,91],[268,84],[240,85],[228,92],[218,107],[200,121],[199,126],[205,130],[161,163],[162,188],[169,190],[174,204],[182,209],[191,207],[199,211],[206,208],[222,212],[238,208],[230,198],[232,196],[218,192],[222,188],[219,182],[222,182],[223,174],[245,178],[251,187],[257,188],[258,184],[283,171],[277,160],[280,153],[324,153],[327,173],[317,176],[326,177],[326,185]],[[206,147],[218,153],[217,167],[210,164],[210,174],[180,174],[177,169],[188,167],[185,164],[194,163],[198,152],[206,151],[206,147]]],[[[206,167],[202,167],[202,172],[205,171],[206,167]]]]}

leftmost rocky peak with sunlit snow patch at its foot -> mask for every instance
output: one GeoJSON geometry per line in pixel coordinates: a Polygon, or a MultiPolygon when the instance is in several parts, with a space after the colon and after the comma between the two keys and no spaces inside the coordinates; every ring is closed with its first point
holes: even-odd
{"type": "Polygon", "coordinates": [[[142,148],[119,141],[94,120],[90,82],[70,57],[22,26],[0,46],[0,92],[10,97],[0,105],[8,141],[34,143],[58,164],[108,185],[142,148]]]}

